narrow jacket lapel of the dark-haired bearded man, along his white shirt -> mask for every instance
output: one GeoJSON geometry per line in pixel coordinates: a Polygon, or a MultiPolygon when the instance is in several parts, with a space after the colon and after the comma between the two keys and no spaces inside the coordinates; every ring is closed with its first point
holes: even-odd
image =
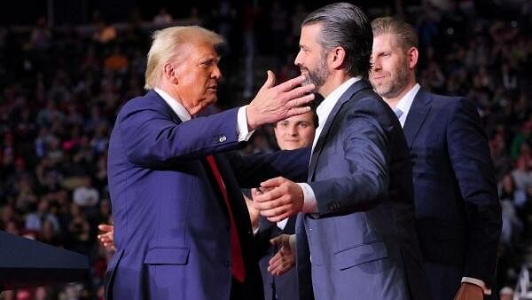
{"type": "Polygon", "coordinates": [[[348,102],[348,100],[351,99],[357,91],[365,89],[370,89],[370,85],[364,79],[353,83],[348,90],[340,96],[340,99],[338,99],[334,107],[332,107],[331,114],[329,114],[327,117],[327,121],[325,122],[324,128],[321,130],[319,137],[317,138],[316,146],[314,147],[314,151],[312,151],[312,156],[310,157],[308,181],[312,181],[314,178],[317,158],[323,150],[325,140],[327,139],[329,130],[331,130],[332,122],[334,122],[336,114],[338,114],[344,103],[348,102]]]}

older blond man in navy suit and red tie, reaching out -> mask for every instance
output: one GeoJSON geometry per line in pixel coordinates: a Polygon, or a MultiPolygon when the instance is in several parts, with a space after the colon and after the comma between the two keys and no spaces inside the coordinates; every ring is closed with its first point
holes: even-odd
{"type": "Polygon", "coordinates": [[[269,72],[249,105],[200,116],[216,101],[222,43],[200,27],[157,31],[148,92],[117,115],[108,155],[116,253],[107,299],[263,297],[239,185],[257,185],[278,170],[301,176],[309,151],[248,160],[223,152],[262,124],[308,112],[301,106],[314,87],[299,87],[304,76],[276,86],[269,72]]]}

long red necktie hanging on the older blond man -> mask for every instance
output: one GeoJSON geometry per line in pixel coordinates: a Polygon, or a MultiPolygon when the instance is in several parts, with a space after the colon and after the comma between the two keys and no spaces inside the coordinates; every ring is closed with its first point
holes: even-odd
{"type": "Polygon", "coordinates": [[[232,214],[231,203],[229,202],[229,197],[227,196],[227,189],[223,184],[222,176],[220,175],[220,171],[216,166],[215,158],[213,157],[213,155],[207,156],[207,162],[209,167],[213,171],[213,174],[215,175],[216,182],[220,187],[220,191],[222,192],[223,200],[225,202],[225,206],[227,206],[227,212],[229,214],[229,224],[231,227],[231,274],[236,280],[239,280],[239,282],[244,282],[244,259],[242,258],[239,233],[237,233],[237,225],[235,224],[235,219],[232,214]]]}

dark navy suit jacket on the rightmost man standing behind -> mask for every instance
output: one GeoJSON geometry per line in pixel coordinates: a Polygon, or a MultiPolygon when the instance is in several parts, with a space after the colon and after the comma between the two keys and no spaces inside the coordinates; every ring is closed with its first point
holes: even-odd
{"type": "Polygon", "coordinates": [[[421,88],[403,130],[431,298],[452,299],[463,276],[495,288],[501,209],[476,108],[466,99],[421,88]]]}

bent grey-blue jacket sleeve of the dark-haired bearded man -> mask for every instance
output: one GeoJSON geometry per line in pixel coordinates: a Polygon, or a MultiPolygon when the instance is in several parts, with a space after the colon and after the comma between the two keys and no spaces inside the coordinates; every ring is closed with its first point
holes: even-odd
{"type": "Polygon", "coordinates": [[[390,156],[386,131],[370,114],[352,114],[346,119],[341,138],[350,174],[309,183],[319,215],[372,209],[387,193],[390,156]]]}

